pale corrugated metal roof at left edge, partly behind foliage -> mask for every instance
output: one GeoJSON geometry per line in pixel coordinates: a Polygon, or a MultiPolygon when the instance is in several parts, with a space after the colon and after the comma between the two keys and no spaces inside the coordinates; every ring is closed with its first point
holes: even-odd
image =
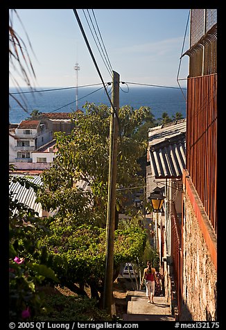
{"type": "MultiPolygon", "coordinates": [[[[25,175],[16,176],[25,177],[25,175]]],[[[33,182],[34,184],[43,184],[40,176],[35,175],[34,177],[27,177],[27,180],[33,182]]],[[[15,193],[12,200],[17,199],[19,202],[24,203],[25,205],[33,209],[35,212],[37,212],[39,216],[42,216],[42,205],[40,203],[35,202],[36,196],[35,191],[32,187],[26,189],[26,187],[19,184],[19,182],[11,182],[9,186],[9,192],[15,193]]]]}

